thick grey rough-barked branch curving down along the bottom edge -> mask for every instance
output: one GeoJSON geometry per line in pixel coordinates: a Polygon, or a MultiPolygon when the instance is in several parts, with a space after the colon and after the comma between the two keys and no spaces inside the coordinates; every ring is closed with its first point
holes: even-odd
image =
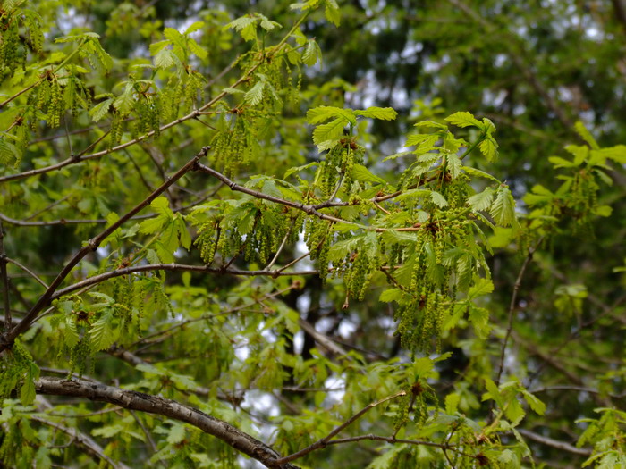
{"type": "Polygon", "coordinates": [[[260,440],[233,427],[230,423],[190,406],[184,406],[171,399],[159,398],[143,392],[106,386],[83,380],[62,380],[44,377],[36,381],[38,394],[88,398],[97,402],[108,402],[129,410],[163,415],[174,420],[189,423],[210,435],[215,436],[237,451],[250,456],[266,467],[296,469],[281,460],[281,456],[260,440]]]}

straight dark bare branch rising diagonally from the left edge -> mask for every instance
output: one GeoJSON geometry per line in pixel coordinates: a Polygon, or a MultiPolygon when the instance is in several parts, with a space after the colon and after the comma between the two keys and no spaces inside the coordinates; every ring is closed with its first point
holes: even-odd
{"type": "Polygon", "coordinates": [[[70,272],[72,272],[72,269],[77,264],[79,264],[80,261],[86,255],[88,255],[91,252],[94,252],[97,249],[97,247],[99,247],[100,244],[108,236],[113,234],[115,230],[120,228],[124,222],[127,222],[134,215],[140,213],[141,210],[143,210],[146,206],[150,204],[150,202],[152,202],[159,195],[161,195],[176,180],[181,179],[184,174],[186,174],[187,172],[190,172],[190,170],[194,167],[194,165],[198,163],[198,160],[201,157],[207,155],[208,150],[209,150],[209,147],[203,147],[202,150],[200,150],[198,155],[195,155],[193,158],[191,158],[190,161],[186,163],[184,166],[182,166],[180,170],[175,172],[169,180],[165,180],[165,182],[161,184],[161,186],[159,186],[156,190],[154,190],[150,195],[148,195],[148,197],[143,199],[138,205],[135,205],[135,207],[131,209],[130,212],[124,214],[122,217],[120,217],[120,219],[117,222],[112,223],[109,227],[106,228],[106,230],[103,230],[102,232],[100,232],[100,234],[98,234],[96,237],[89,239],[89,241],[84,243],[83,247],[81,247],[80,250],[75,255],[72,256],[72,259],[70,259],[70,261],[67,264],[65,264],[61,272],[59,272],[56,275],[55,280],[52,281],[52,283],[50,283],[50,286],[47,288],[44,294],[41,297],[39,297],[37,303],[34,306],[32,306],[32,308],[30,308],[29,313],[26,314],[26,316],[24,316],[24,318],[21,320],[21,322],[17,326],[15,326],[11,331],[7,331],[2,336],[2,338],[0,339],[0,353],[2,353],[7,348],[10,348],[13,345],[13,340],[17,336],[19,336],[23,331],[26,331],[29,328],[30,324],[33,321],[35,321],[35,318],[37,318],[39,312],[41,312],[41,310],[50,303],[51,298],[53,297],[56,289],[58,289],[58,287],[61,285],[61,283],[63,283],[65,278],[70,274],[70,272]]]}

